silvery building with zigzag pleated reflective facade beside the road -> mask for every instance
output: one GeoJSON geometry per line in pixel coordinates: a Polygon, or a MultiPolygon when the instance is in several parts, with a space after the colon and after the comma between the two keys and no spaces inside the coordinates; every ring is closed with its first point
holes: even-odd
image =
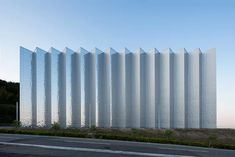
{"type": "Polygon", "coordinates": [[[216,54],[20,47],[24,126],[216,128],[216,54]]]}

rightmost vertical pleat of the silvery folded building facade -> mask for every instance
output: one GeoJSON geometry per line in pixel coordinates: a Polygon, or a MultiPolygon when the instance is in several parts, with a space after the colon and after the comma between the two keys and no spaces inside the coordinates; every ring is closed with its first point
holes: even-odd
{"type": "Polygon", "coordinates": [[[216,127],[216,54],[215,49],[201,54],[201,128],[216,127]]]}

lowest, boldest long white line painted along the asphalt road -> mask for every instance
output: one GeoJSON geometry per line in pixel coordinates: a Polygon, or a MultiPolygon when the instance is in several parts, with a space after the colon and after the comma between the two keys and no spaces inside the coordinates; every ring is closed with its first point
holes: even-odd
{"type": "Polygon", "coordinates": [[[37,148],[46,148],[46,149],[59,149],[59,150],[73,150],[73,151],[83,151],[83,152],[95,152],[95,153],[110,153],[110,154],[122,154],[122,155],[136,155],[136,156],[193,157],[193,156],[173,155],[173,154],[156,154],[156,153],[131,152],[131,151],[108,150],[108,149],[92,149],[92,148],[79,148],[79,147],[63,147],[63,146],[50,146],[50,145],[26,144],[26,143],[12,143],[12,142],[0,142],[0,144],[2,144],[2,145],[12,145],[12,146],[37,147],[37,148]]]}

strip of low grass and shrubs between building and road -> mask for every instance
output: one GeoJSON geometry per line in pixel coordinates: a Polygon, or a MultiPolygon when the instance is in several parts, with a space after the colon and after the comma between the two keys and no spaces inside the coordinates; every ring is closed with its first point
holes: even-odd
{"type": "Polygon", "coordinates": [[[0,133],[66,136],[80,138],[112,139],[151,143],[168,143],[210,148],[235,149],[235,129],[62,129],[55,123],[48,128],[1,128],[0,133]]]}

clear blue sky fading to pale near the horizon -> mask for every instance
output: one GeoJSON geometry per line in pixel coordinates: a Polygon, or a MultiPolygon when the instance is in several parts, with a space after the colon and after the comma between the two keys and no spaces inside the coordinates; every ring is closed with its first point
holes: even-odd
{"type": "Polygon", "coordinates": [[[0,79],[19,47],[217,50],[217,126],[235,128],[234,0],[0,0],[0,79]]]}

